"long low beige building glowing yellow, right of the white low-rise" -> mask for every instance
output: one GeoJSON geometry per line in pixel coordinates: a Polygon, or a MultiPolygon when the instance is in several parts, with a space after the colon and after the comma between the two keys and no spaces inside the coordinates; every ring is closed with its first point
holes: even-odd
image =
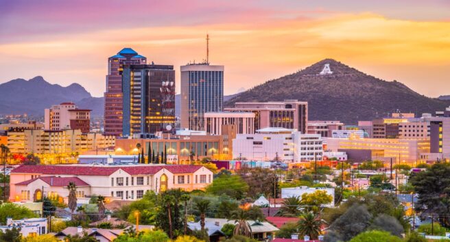
{"type": "MultiPolygon", "coordinates": [[[[382,157],[372,159],[388,161],[390,158],[396,162],[416,163],[421,160],[421,153],[429,152],[429,139],[350,139],[325,138],[327,150],[375,150],[375,154],[382,157]],[[382,151],[382,152],[379,152],[382,151]]],[[[351,157],[348,157],[351,159],[351,157]]]]}

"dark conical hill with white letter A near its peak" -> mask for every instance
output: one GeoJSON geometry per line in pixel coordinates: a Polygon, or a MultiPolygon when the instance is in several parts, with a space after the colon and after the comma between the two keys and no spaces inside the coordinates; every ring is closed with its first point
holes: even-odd
{"type": "Polygon", "coordinates": [[[434,113],[450,102],[428,98],[398,81],[384,81],[335,61],[324,59],[294,74],[266,81],[228,100],[267,102],[297,99],[309,103],[309,120],[358,120],[388,117],[395,111],[434,113]],[[332,73],[320,75],[328,65],[332,73]]]}

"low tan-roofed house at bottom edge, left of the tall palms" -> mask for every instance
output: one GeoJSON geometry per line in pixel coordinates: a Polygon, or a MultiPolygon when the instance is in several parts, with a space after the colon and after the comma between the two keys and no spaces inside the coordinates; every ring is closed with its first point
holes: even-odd
{"type": "Polygon", "coordinates": [[[81,226],[78,227],[67,227],[61,232],[55,234],[56,239],[60,241],[64,241],[64,239],[70,235],[83,237],[84,233],[88,234],[89,237],[95,237],[99,242],[109,242],[114,241],[120,234],[123,233],[123,230],[109,230],[103,228],[86,228],[83,229],[81,226]]]}

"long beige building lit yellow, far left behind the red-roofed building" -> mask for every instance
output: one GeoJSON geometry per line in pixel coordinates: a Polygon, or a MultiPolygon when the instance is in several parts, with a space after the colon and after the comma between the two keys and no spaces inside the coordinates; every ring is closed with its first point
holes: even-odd
{"type": "Polygon", "coordinates": [[[99,133],[82,133],[79,129],[62,131],[21,130],[8,132],[8,147],[12,154],[64,156],[87,150],[115,146],[114,136],[99,133]]]}

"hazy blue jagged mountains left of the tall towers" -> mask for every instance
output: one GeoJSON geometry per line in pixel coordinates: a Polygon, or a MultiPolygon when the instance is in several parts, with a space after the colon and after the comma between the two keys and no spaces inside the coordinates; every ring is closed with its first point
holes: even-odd
{"type": "Polygon", "coordinates": [[[62,87],[38,76],[28,81],[14,79],[0,84],[0,114],[27,113],[44,116],[44,109],[63,102],[73,102],[80,108],[93,109],[93,116],[103,115],[103,98],[91,96],[78,83],[62,87]]]}

